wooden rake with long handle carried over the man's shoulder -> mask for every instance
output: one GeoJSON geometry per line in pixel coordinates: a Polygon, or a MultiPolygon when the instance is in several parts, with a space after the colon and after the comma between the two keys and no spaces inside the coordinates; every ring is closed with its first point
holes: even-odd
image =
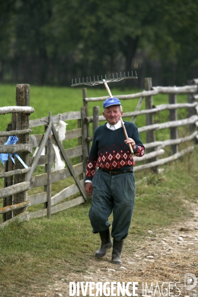
{"type": "MultiPolygon", "coordinates": [[[[119,81],[121,81],[123,79],[132,79],[132,78],[138,78],[136,71],[135,71],[135,76],[133,75],[133,71],[132,71],[132,76],[129,76],[129,72],[128,72],[128,76],[125,75],[125,72],[124,72],[124,76],[122,76],[122,74],[120,72],[120,77],[118,77],[118,74],[116,73],[116,77],[114,77],[114,75],[112,74],[112,78],[111,78],[111,76],[109,74],[109,79],[106,79],[106,75],[105,75],[105,79],[102,79],[102,76],[101,76],[101,80],[99,80],[99,77],[97,76],[97,80],[95,80],[95,76],[94,76],[93,81],[92,81],[92,79],[90,77],[90,81],[88,81],[88,78],[86,78],[86,81],[84,81],[84,78],[83,78],[83,81],[80,82],[80,78],[79,78],[78,83],[77,83],[77,80],[75,79],[75,84],[73,84],[73,79],[72,79],[72,85],[71,86],[72,87],[79,86],[79,85],[96,86],[96,85],[99,85],[99,84],[104,84],[109,97],[113,98],[107,83],[119,82],[119,81]]],[[[122,128],[124,130],[125,137],[128,138],[127,131],[126,131],[126,128],[124,126],[123,120],[122,120],[122,118],[120,118],[120,119],[121,119],[121,124],[122,124],[122,128]]],[[[129,144],[129,148],[130,148],[131,153],[133,154],[133,148],[132,148],[131,144],[129,144]]]]}

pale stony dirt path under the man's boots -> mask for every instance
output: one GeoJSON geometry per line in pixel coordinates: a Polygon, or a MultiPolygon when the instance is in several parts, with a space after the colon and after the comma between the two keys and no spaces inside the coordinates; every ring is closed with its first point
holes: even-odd
{"type": "MultiPolygon", "coordinates": [[[[198,204],[193,205],[192,217],[186,221],[172,225],[168,229],[158,229],[155,234],[148,230],[148,237],[144,238],[141,247],[137,246],[135,253],[130,251],[131,240],[132,238],[128,237],[124,242],[122,265],[114,265],[110,262],[111,250],[100,259],[93,255],[85,274],[71,273],[68,278],[60,279],[54,285],[48,286],[46,294],[39,296],[69,296],[69,282],[76,284],[84,282],[84,286],[86,282],[95,282],[95,285],[101,282],[102,286],[105,282],[115,282],[115,288],[118,282],[122,285],[125,282],[125,286],[128,282],[138,282],[136,285],[138,289],[134,293],[139,297],[146,295],[143,283],[144,289],[146,283],[148,289],[151,288],[152,283],[152,290],[150,292],[147,290],[147,296],[198,297],[198,285],[191,290],[187,290],[187,286],[184,286],[186,273],[193,273],[198,278],[198,204]],[[164,290],[161,287],[163,282],[167,282],[163,284],[164,290]],[[180,283],[175,286],[176,282],[180,283]],[[165,289],[168,287],[170,289],[167,293],[165,289]]],[[[192,284],[193,281],[190,285],[192,284]]],[[[93,290],[92,294],[95,292],[96,290],[93,290]]],[[[111,292],[116,294],[112,296],[118,296],[117,289],[111,292]]],[[[129,291],[126,291],[125,296],[127,292],[133,296],[132,285],[129,286],[129,291]]],[[[77,296],[77,292],[73,296],[77,296]]],[[[82,296],[82,291],[80,291],[80,296],[82,296]]],[[[90,296],[89,287],[88,294],[84,296],[90,296]]],[[[120,296],[122,296],[121,293],[120,296]]]]}

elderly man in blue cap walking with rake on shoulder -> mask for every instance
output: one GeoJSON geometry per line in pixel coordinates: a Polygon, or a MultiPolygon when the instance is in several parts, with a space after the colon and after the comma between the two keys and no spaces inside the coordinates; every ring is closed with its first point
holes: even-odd
{"type": "Polygon", "coordinates": [[[101,246],[95,256],[103,257],[113,246],[112,262],[121,264],[120,255],[128,235],[136,192],[133,172],[135,161],[129,144],[139,157],[144,155],[145,147],[136,125],[124,121],[128,135],[126,139],[121,125],[123,111],[119,99],[106,99],[103,108],[102,114],[107,123],[99,126],[94,133],[87,163],[85,191],[88,196],[92,196],[89,218],[93,233],[99,233],[101,239],[101,246]],[[96,167],[99,167],[97,172],[96,167]],[[108,217],[112,211],[110,236],[108,217]]]}

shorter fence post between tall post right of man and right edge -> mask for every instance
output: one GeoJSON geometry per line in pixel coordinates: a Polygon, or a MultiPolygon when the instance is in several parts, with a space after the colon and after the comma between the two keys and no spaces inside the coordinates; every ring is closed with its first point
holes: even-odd
{"type": "MultiPolygon", "coordinates": [[[[169,104],[176,104],[177,103],[177,97],[175,94],[169,94],[169,104]]],[[[169,112],[169,118],[170,121],[177,121],[177,109],[170,109],[169,112]]],[[[177,139],[178,138],[178,129],[177,127],[170,128],[170,139],[177,139]]],[[[178,145],[172,145],[171,146],[171,152],[172,154],[175,154],[179,151],[178,145]]]]}

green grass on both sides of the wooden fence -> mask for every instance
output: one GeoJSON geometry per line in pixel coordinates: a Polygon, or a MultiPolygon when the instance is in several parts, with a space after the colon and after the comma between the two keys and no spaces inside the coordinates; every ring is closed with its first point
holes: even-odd
{"type": "MultiPolygon", "coordinates": [[[[35,108],[31,119],[79,111],[82,91],[79,88],[30,87],[30,105],[35,108]]],[[[111,90],[112,94],[130,94],[135,90],[111,90]]],[[[140,90],[136,90],[140,91],[140,90]]],[[[88,89],[88,97],[105,96],[105,90],[88,89]]],[[[0,85],[1,106],[15,104],[15,86],[0,85]]],[[[124,111],[135,109],[138,100],[123,101],[124,111]]],[[[178,96],[178,102],[186,102],[178,96]]],[[[167,96],[158,95],[153,104],[167,103],[167,96]]],[[[96,104],[95,104],[96,105],[96,104]]],[[[97,103],[102,106],[102,102],[97,103]]],[[[93,105],[90,104],[90,114],[93,105]]],[[[144,106],[142,107],[144,108],[144,106]]],[[[100,108],[101,114],[102,108],[100,108]]],[[[179,117],[185,116],[181,110],[179,117]]],[[[10,115],[9,115],[10,117],[10,115]]],[[[156,121],[168,120],[168,113],[155,115],[156,121]]],[[[0,116],[0,130],[5,130],[8,117],[0,116]],[[2,118],[2,119],[1,119],[2,118]],[[6,120],[5,120],[6,118],[6,120]]],[[[145,125],[144,119],[136,122],[145,125]]],[[[72,129],[72,127],[68,127],[72,129]]],[[[168,132],[167,132],[168,133],[168,132]]],[[[181,131],[181,133],[184,133],[181,131]]],[[[162,133],[157,138],[164,138],[162,133]]],[[[191,145],[190,143],[188,145],[191,145]]],[[[198,148],[191,155],[163,166],[163,174],[151,170],[138,171],[136,205],[129,230],[131,253],[142,245],[148,229],[155,230],[191,216],[187,204],[197,203],[198,148]],[[186,202],[188,202],[186,204],[186,202]]],[[[71,272],[84,273],[98,248],[99,238],[92,234],[88,211],[91,201],[47,217],[25,223],[11,223],[0,229],[0,294],[2,297],[34,296],[57,278],[69,278],[71,272]]],[[[112,217],[110,217],[110,221],[112,217]]]]}

